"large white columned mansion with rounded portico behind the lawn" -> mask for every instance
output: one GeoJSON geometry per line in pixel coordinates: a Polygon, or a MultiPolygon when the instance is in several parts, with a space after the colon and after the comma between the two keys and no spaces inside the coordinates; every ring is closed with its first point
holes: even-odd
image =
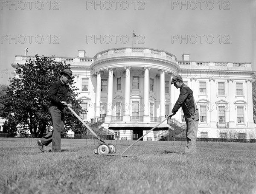
{"type": "MultiPolygon", "coordinates": [[[[15,56],[24,64],[35,56],[15,56]]],[[[182,60],[172,53],[152,48],[113,48],[86,57],[56,57],[71,66],[84,121],[105,118],[103,127],[116,137],[136,140],[159,124],[172,111],[180,91],[170,85],[172,76],[180,74],[194,93],[200,112],[198,137],[255,138],[253,122],[252,78],[248,62],[182,60]]],[[[173,117],[185,123],[183,112],[173,117]]],[[[157,141],[168,130],[165,122],[143,140],[157,141]]]]}

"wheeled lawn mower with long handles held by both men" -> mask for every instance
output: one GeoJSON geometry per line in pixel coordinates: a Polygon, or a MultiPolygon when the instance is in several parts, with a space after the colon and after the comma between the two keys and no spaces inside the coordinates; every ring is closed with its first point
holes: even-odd
{"type": "MultiPolygon", "coordinates": [[[[90,132],[97,138],[99,139],[99,141],[102,142],[102,144],[100,144],[96,149],[94,149],[94,153],[95,154],[99,154],[99,155],[112,155],[114,156],[114,153],[116,153],[116,146],[109,143],[105,143],[101,138],[99,138],[99,136],[79,117],[79,115],[76,114],[76,112],[71,108],[68,107],[68,109],[81,121],[82,124],[84,124],[85,127],[87,127],[87,129],[90,130],[90,132]]],[[[173,115],[172,115],[173,116],[173,115]]],[[[127,148],[123,148],[125,149],[122,153],[120,154],[115,154],[116,156],[120,155],[120,156],[127,156],[127,155],[123,155],[128,149],[131,148],[131,146],[133,146],[135,143],[137,143],[138,141],[140,141],[143,137],[145,137],[145,135],[148,135],[149,132],[151,132],[152,130],[154,130],[156,127],[158,127],[160,124],[162,124],[164,121],[166,121],[169,118],[169,116],[167,116],[161,123],[157,124],[155,127],[153,127],[152,129],[150,129],[146,134],[144,134],[143,136],[141,136],[137,141],[135,141],[133,144],[131,144],[130,146],[128,146],[127,148]]],[[[123,150],[120,149],[120,150],[123,150]]]]}

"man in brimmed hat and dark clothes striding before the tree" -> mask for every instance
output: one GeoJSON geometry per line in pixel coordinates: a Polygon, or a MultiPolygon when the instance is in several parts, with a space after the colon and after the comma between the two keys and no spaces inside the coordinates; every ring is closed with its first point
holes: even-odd
{"type": "Polygon", "coordinates": [[[64,107],[70,106],[67,104],[67,81],[72,79],[72,71],[64,69],[61,72],[61,77],[54,82],[49,89],[48,98],[49,113],[52,118],[52,132],[49,132],[43,138],[38,139],[38,146],[41,152],[44,152],[44,145],[48,146],[52,142],[52,152],[61,152],[61,132],[64,131],[64,107]]]}

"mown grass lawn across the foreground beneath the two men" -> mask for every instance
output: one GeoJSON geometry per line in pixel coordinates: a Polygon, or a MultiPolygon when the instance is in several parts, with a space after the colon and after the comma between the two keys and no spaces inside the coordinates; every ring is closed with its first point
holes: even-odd
{"type": "Polygon", "coordinates": [[[0,194],[256,193],[255,143],[197,142],[184,155],[184,141],[141,141],[119,157],[94,155],[96,140],[61,139],[62,152],[41,153],[36,139],[0,139],[0,194]]]}

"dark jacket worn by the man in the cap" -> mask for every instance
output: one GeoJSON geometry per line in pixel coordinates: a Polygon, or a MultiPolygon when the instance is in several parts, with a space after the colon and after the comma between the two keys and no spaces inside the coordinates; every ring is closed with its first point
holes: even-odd
{"type": "Polygon", "coordinates": [[[194,96],[193,91],[189,87],[184,86],[185,84],[182,84],[180,87],[180,96],[172,109],[172,113],[175,114],[182,107],[184,116],[189,118],[195,113],[194,96]]]}

